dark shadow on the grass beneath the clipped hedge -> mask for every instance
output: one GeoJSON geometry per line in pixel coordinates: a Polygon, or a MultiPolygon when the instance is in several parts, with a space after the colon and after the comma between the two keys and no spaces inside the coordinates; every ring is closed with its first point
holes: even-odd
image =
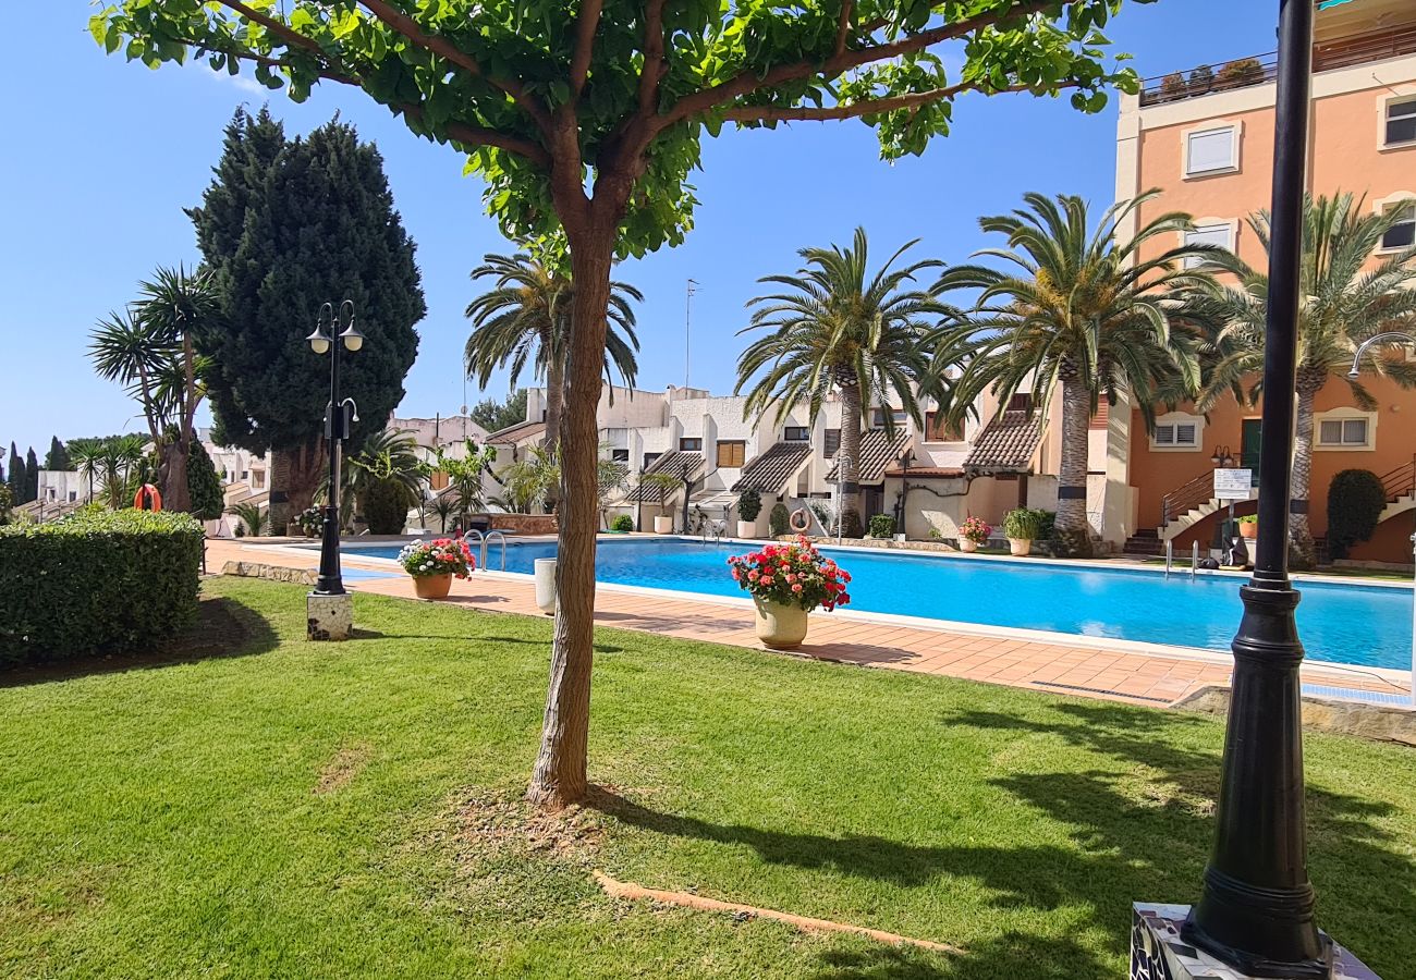
{"type": "Polygon", "coordinates": [[[67,660],[0,664],[0,687],[25,687],[51,681],[112,674],[127,670],[171,667],[214,657],[249,657],[279,644],[275,629],[259,612],[231,599],[202,598],[197,622],[152,650],[130,654],[88,653],[67,660]]]}

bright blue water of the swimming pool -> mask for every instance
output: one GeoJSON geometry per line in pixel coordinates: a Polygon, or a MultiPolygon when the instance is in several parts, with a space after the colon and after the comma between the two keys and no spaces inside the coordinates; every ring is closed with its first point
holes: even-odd
{"type": "MultiPolygon", "coordinates": [[[[398,547],[353,547],[350,554],[394,558],[398,547]]],[[[602,541],[600,582],[745,595],[728,576],[742,544],[668,540],[602,541]]],[[[1239,625],[1238,576],[1188,572],[1165,579],[1120,568],[1058,568],[1027,561],[969,561],[899,552],[824,548],[851,576],[851,609],[987,626],[1107,636],[1229,651],[1239,625]]],[[[491,549],[493,568],[500,565],[491,549]]],[[[513,544],[507,571],[531,574],[554,542],[513,544]]],[[[1298,629],[1308,656],[1366,667],[1410,667],[1412,591],[1303,582],[1298,629]]]]}

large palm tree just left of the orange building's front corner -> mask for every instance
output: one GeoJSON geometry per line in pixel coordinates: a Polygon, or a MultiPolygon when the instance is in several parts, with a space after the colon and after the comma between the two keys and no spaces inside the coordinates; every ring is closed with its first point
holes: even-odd
{"type": "Polygon", "coordinates": [[[1182,245],[1146,259],[1154,239],[1174,239],[1192,228],[1188,215],[1161,214],[1129,241],[1117,227],[1160,191],[1120,201],[1092,228],[1080,197],[1027,194],[1027,208],[981,218],[984,231],[1008,237],[1008,248],[978,255],[1008,262],[1000,272],[983,265],[949,270],[940,286],[981,290],[976,307],[959,313],[930,338],[935,370],[957,370],[946,415],[959,422],[986,391],[1007,405],[1020,389],[1031,411],[1046,411],[1062,394],[1062,459],[1054,545],[1061,554],[1089,555],[1086,518],[1087,428],[1100,398],[1116,404],[1130,392],[1146,426],[1155,405],[1174,405],[1199,384],[1204,329],[1214,303],[1197,296],[1206,273],[1185,270],[1187,258],[1212,261],[1222,249],[1182,245]]]}

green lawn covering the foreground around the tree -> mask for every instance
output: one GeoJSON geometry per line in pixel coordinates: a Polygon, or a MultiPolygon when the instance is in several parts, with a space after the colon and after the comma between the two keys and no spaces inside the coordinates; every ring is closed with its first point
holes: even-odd
{"type": "MultiPolygon", "coordinates": [[[[299,588],[205,593],[181,663],[0,674],[0,976],[1079,980],[1121,976],[1133,899],[1197,891],[1206,718],[605,630],[605,789],[528,820],[547,622],[358,596],[368,633],[313,644],[299,588]]],[[[1307,759],[1323,925],[1412,976],[1416,755],[1307,759]]]]}

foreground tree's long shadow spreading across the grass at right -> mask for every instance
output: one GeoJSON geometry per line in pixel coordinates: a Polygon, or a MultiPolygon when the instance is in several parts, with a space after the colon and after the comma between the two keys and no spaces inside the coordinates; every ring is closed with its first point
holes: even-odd
{"type": "MultiPolygon", "coordinates": [[[[1185,749],[1172,738],[1177,727],[1212,721],[1120,705],[1063,704],[1045,721],[976,711],[949,715],[943,724],[1007,732],[1010,738],[1024,732],[1061,738],[1095,756],[1087,769],[1008,773],[990,780],[1014,797],[1014,806],[1038,814],[1039,834],[1048,840],[919,845],[871,834],[766,830],[661,813],[605,790],[590,806],[656,833],[745,845],[775,865],[826,868],[899,888],[943,877],[970,879],[986,895],[981,916],[994,908],[1037,918],[1037,911],[1065,906],[1054,925],[1075,922],[1072,935],[1079,940],[1082,933],[1103,936],[1083,946],[1065,936],[1012,932],[983,945],[966,943],[969,953],[950,964],[895,950],[840,953],[826,957],[821,977],[1112,976],[1126,955],[1131,902],[1189,902],[1198,896],[1214,831],[1218,739],[1212,749],[1185,749]],[[1058,834],[1069,840],[1059,843],[1058,834]]],[[[1085,762],[1075,753],[1069,758],[1085,762]]],[[[1409,929],[1416,918],[1416,861],[1409,841],[1382,827],[1392,813],[1383,802],[1308,787],[1321,922],[1371,966],[1388,969],[1416,962],[1416,933],[1409,929]]]]}

